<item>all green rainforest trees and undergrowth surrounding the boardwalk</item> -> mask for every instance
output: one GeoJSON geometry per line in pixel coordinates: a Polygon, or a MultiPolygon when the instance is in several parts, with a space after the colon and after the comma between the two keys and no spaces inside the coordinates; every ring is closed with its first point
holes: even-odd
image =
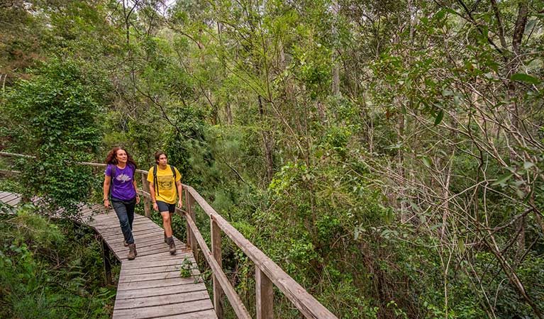
{"type": "MultiPolygon", "coordinates": [[[[73,213],[103,178],[74,161],[165,150],[338,318],[544,318],[543,23],[543,0],[0,0],[0,150],[35,156],[1,190],[73,213]]],[[[1,219],[0,316],[107,318],[96,240],[33,210],[1,219]],[[57,254],[80,258],[35,276],[57,254]]]]}

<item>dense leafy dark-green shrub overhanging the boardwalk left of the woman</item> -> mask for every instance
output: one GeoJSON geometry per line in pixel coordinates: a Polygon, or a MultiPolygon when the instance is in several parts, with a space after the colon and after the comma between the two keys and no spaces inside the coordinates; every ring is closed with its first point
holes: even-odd
{"type": "Polygon", "coordinates": [[[11,150],[37,159],[19,167],[24,195],[43,197],[50,211],[62,206],[73,214],[89,194],[91,170],[75,162],[96,154],[101,141],[96,123],[106,88],[106,79],[75,62],[52,60],[4,94],[4,112],[13,123],[7,130],[11,150]]]}

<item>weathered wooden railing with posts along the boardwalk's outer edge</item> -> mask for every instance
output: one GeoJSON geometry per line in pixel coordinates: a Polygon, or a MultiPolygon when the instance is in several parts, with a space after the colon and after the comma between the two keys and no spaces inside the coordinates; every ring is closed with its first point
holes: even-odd
{"type": "MultiPolygon", "coordinates": [[[[8,152],[0,152],[0,156],[15,156],[15,157],[26,157],[33,158],[30,155],[19,155],[8,152]]],[[[106,167],[106,164],[91,163],[91,162],[78,162],[78,164],[83,164],[93,167],[106,167]]],[[[142,174],[142,182],[145,184],[147,180],[148,171],[143,169],[137,169],[136,172],[142,174]]],[[[210,205],[207,203],[202,196],[191,186],[182,184],[185,189],[185,201],[187,204],[187,209],[184,211],[182,209],[176,208],[178,213],[181,213],[187,221],[187,245],[193,248],[193,253],[195,258],[198,255],[198,252],[194,251],[196,244],[199,245],[200,249],[204,253],[206,261],[210,265],[213,276],[214,276],[214,294],[215,293],[225,293],[228,298],[228,301],[231,302],[238,318],[250,318],[248,310],[243,305],[240,297],[230,281],[228,281],[226,275],[224,274],[221,268],[221,247],[213,247],[212,250],[215,253],[212,253],[209,247],[206,245],[204,237],[199,232],[196,223],[194,223],[194,212],[192,211],[192,201],[196,201],[206,215],[210,218],[211,232],[214,232],[214,228],[219,228],[223,233],[225,233],[236,246],[240,248],[255,264],[256,274],[255,281],[257,283],[256,293],[257,293],[257,319],[267,319],[273,318],[272,312],[272,284],[277,286],[277,288],[284,293],[285,296],[291,301],[294,306],[304,315],[306,318],[312,319],[338,319],[331,311],[329,311],[325,306],[323,306],[319,301],[311,296],[304,287],[297,283],[291,276],[283,271],[275,262],[270,259],[265,253],[259,250],[255,245],[253,245],[249,240],[247,240],[236,228],[233,227],[227,220],[225,220],[221,215],[219,215],[210,205]],[[193,242],[194,241],[194,242],[193,242]],[[221,290],[216,288],[216,281],[221,286],[221,290]]],[[[148,189],[143,187],[143,190],[138,190],[138,193],[143,195],[145,198],[150,198],[148,189]]],[[[145,203],[149,205],[149,201],[145,203]]],[[[145,210],[145,215],[148,216],[149,209],[145,210]]],[[[150,216],[148,216],[150,217],[150,216]]],[[[218,234],[212,235],[215,237],[218,245],[221,245],[221,236],[218,234]]],[[[212,238],[213,240],[213,238],[212,238]]],[[[216,298],[214,298],[216,299],[216,298]]],[[[216,299],[217,301],[217,299],[216,299]]],[[[215,305],[219,317],[222,317],[221,305],[215,305]],[[220,314],[221,313],[221,314],[220,314]]]]}

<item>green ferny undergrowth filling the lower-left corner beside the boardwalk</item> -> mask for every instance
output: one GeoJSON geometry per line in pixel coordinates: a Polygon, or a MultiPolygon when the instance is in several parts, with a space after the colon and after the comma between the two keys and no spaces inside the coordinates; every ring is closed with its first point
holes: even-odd
{"type": "Polygon", "coordinates": [[[115,289],[102,284],[93,230],[30,206],[0,218],[1,318],[110,318],[115,289]]]}

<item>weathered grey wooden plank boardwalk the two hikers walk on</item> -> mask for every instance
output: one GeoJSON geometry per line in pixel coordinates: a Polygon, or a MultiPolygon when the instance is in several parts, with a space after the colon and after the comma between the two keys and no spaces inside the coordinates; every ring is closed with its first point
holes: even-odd
{"type": "MultiPolygon", "coordinates": [[[[0,192],[0,201],[16,205],[20,196],[0,192]]],[[[121,261],[113,318],[217,318],[206,286],[187,246],[174,238],[177,253],[171,255],[162,228],[144,216],[135,215],[133,235],[138,256],[128,260],[128,247],[113,210],[94,205],[82,208],[83,223],[94,228],[121,261]],[[183,278],[180,268],[188,259],[193,276],[183,278]]]]}

